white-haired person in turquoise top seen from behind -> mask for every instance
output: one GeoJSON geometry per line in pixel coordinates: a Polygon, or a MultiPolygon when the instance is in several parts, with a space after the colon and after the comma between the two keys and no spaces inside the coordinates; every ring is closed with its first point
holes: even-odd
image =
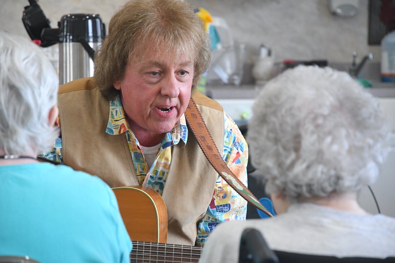
{"type": "Polygon", "coordinates": [[[59,134],[57,91],[39,47],[0,32],[0,256],[129,262],[131,242],[111,188],[36,159],[59,134]]]}

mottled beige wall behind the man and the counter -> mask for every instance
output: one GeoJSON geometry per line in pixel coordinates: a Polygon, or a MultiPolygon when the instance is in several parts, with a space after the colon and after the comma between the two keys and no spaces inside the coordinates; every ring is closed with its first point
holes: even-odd
{"type": "MultiPolygon", "coordinates": [[[[111,15],[125,0],[40,0],[45,15],[56,27],[66,13],[98,13],[108,25],[111,15]]],[[[246,62],[252,63],[261,43],[271,47],[276,60],[311,60],[349,63],[351,52],[360,57],[373,52],[380,59],[380,47],[367,45],[368,0],[359,1],[359,13],[352,18],[329,13],[327,0],[192,0],[195,7],[223,17],[235,39],[246,44],[246,62]]],[[[28,37],[21,16],[27,0],[0,0],[0,26],[28,37]]]]}

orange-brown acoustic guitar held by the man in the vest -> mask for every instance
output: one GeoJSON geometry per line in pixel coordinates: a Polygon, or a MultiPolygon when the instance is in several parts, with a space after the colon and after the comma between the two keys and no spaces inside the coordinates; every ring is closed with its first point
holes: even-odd
{"type": "Polygon", "coordinates": [[[203,248],[166,244],[167,210],[162,196],[142,187],[115,187],[119,212],[132,240],[131,263],[198,262],[203,248]]]}

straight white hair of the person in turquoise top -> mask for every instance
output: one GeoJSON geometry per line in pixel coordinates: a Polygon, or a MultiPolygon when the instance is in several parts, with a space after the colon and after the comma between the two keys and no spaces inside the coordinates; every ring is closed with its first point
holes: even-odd
{"type": "Polygon", "coordinates": [[[56,105],[58,76],[37,45],[0,32],[0,148],[12,155],[40,152],[59,131],[48,123],[56,105]]]}

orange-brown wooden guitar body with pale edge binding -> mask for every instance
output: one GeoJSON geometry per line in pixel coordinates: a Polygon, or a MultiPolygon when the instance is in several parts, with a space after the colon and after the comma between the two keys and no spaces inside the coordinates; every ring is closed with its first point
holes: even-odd
{"type": "Polygon", "coordinates": [[[167,242],[167,210],[158,192],[142,186],[112,189],[130,239],[167,242]]]}

